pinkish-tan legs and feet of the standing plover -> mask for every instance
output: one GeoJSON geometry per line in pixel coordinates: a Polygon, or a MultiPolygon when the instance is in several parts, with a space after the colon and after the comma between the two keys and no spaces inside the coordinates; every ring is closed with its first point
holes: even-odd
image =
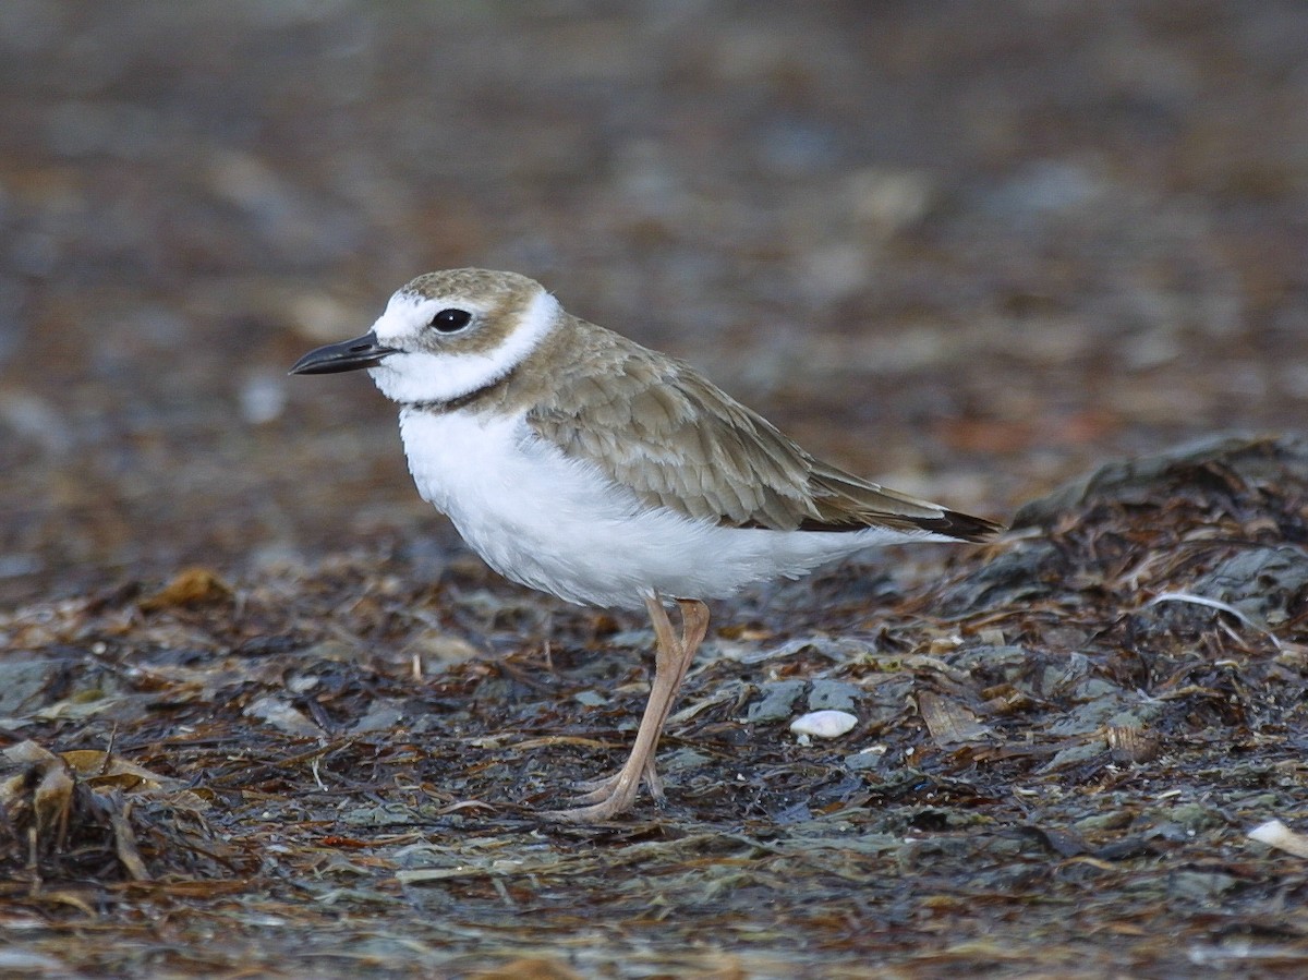
{"type": "Polygon", "coordinates": [[[655,799],[663,796],[663,786],[654,768],[654,752],[659,735],[672,709],[676,692],[685,679],[685,671],[695,659],[704,635],[709,628],[709,607],[696,599],[678,599],[681,608],[681,636],[672,631],[672,623],[663,608],[663,601],[655,594],[645,601],[654,623],[657,648],[654,652],[654,684],[645,704],[640,729],[636,731],[636,744],[627,764],[613,776],[583,784],[589,793],[578,798],[583,806],[570,810],[551,810],[547,816],[572,823],[607,820],[615,814],[630,809],[640,790],[641,780],[649,784],[655,799]]]}

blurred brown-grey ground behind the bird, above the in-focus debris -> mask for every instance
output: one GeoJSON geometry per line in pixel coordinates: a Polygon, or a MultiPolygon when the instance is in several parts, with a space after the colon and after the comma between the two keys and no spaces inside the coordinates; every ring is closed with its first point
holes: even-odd
{"type": "Polygon", "coordinates": [[[978,513],[1308,408],[1308,7],[0,4],[0,606],[450,543],[362,376],[544,281],[978,513]]]}

